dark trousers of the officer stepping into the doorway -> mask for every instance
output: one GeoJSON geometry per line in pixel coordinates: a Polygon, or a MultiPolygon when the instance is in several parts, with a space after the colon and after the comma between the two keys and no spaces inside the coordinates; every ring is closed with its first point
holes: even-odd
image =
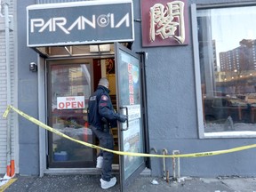
{"type": "MultiPolygon", "coordinates": [[[[109,129],[105,131],[101,131],[96,127],[91,126],[92,132],[96,135],[96,137],[100,140],[101,148],[114,149],[114,140],[113,135],[110,134],[109,129]]],[[[101,150],[103,156],[103,164],[102,164],[102,180],[109,181],[112,178],[112,163],[113,163],[113,153],[109,153],[108,151],[101,150]]]]}

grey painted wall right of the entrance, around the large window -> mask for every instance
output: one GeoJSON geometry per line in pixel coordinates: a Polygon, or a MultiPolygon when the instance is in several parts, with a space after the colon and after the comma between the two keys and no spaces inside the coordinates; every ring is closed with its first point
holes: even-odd
{"type": "MultiPolygon", "coordinates": [[[[134,19],[140,19],[140,2],[134,2],[134,19]]],[[[223,4],[237,0],[188,0],[190,4],[223,4]]],[[[192,44],[192,27],[189,23],[190,42],[186,46],[141,48],[140,23],[135,22],[134,52],[148,52],[146,81],[148,100],[148,131],[150,148],[158,154],[163,149],[180,154],[235,148],[255,143],[255,139],[199,139],[196,116],[195,63],[192,44]]],[[[181,176],[255,176],[256,149],[221,156],[180,158],[181,176]]],[[[153,151],[150,151],[154,153],[153,151]]],[[[167,159],[172,172],[172,159],[167,159]]],[[[151,158],[152,174],[163,174],[163,159],[151,158]]]]}

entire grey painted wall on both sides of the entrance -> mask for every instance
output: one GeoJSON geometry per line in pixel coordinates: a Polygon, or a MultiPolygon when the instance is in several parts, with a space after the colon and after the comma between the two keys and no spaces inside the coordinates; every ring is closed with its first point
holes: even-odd
{"type": "MultiPolygon", "coordinates": [[[[43,1],[40,1],[44,3],[43,1]]],[[[53,1],[51,1],[53,2],[53,1]]],[[[55,1],[54,1],[55,2],[55,1]]],[[[65,1],[68,2],[68,1],[65,1]]],[[[70,1],[69,1],[70,2],[70,1]]],[[[227,3],[244,2],[226,0],[227,3]]],[[[49,2],[47,2],[49,3],[49,2]]],[[[190,4],[222,4],[223,0],[188,0],[190,4]]],[[[19,33],[19,108],[28,115],[37,116],[37,76],[28,71],[28,64],[36,60],[36,52],[26,46],[26,6],[36,0],[18,2],[19,33]]],[[[140,1],[133,1],[134,19],[140,18],[140,1]]],[[[190,10],[189,17],[190,17],[190,10]]],[[[190,20],[189,20],[190,21],[190,20]]],[[[133,52],[148,52],[146,82],[148,100],[148,131],[150,148],[158,154],[166,148],[168,153],[180,150],[181,154],[234,148],[252,144],[255,139],[199,139],[196,112],[195,63],[192,45],[141,47],[141,22],[135,22],[133,52]]],[[[19,118],[20,173],[38,174],[38,127],[19,118]]],[[[181,176],[241,175],[255,176],[255,148],[221,156],[181,158],[181,176]]],[[[151,158],[153,175],[162,175],[161,158],[151,158]]],[[[167,159],[167,169],[172,172],[172,159],[167,159]]]]}

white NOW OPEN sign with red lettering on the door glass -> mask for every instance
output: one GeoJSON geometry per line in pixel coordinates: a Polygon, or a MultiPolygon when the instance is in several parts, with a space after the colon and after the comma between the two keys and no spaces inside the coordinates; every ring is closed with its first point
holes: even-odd
{"type": "Polygon", "coordinates": [[[58,97],[58,109],[76,109],[84,108],[84,96],[58,97]]]}

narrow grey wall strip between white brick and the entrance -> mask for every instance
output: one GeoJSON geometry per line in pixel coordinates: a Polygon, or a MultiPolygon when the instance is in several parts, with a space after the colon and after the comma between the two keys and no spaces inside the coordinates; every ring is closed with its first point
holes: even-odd
{"type": "MultiPolygon", "coordinates": [[[[36,0],[17,2],[18,26],[18,108],[38,119],[37,73],[29,71],[29,63],[37,63],[37,54],[27,47],[26,7],[36,4],[36,0]]],[[[39,128],[19,116],[20,174],[39,174],[39,128]]]]}

